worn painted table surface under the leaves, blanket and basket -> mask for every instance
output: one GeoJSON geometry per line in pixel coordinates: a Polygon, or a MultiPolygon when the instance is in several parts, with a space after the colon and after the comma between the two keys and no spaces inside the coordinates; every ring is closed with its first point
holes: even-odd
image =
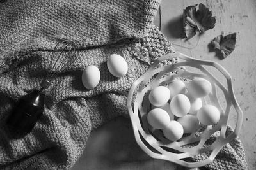
{"type": "MultiPolygon", "coordinates": [[[[212,60],[221,64],[232,75],[234,92],[244,112],[243,126],[239,133],[248,169],[256,169],[256,1],[255,0],[163,0],[163,34],[175,45],[193,47],[186,49],[174,46],[176,51],[191,57],[212,60]],[[216,26],[197,39],[184,41],[182,34],[182,11],[192,4],[205,4],[214,16],[216,26]],[[209,48],[210,41],[224,34],[237,33],[236,49],[226,59],[220,60],[209,48]]],[[[155,24],[158,25],[159,16],[155,24]]],[[[230,117],[234,127],[236,116],[230,117]]],[[[172,162],[152,159],[136,144],[131,122],[118,117],[93,131],[81,159],[73,169],[185,169],[172,162]]]]}

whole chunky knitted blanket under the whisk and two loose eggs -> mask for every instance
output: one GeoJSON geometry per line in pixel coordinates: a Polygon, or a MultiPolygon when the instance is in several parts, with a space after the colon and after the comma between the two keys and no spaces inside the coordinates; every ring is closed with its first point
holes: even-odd
{"type": "MultiPolygon", "coordinates": [[[[159,0],[0,2],[0,169],[70,169],[91,131],[127,116],[131,83],[157,57],[172,52],[152,26],[158,6],[159,0]],[[40,87],[52,50],[64,39],[79,44],[79,59],[52,79],[42,117],[31,133],[17,138],[6,127],[6,118],[20,96],[40,87]],[[113,53],[127,60],[123,78],[108,72],[106,60],[113,53]],[[81,74],[90,65],[99,67],[101,79],[87,90],[81,74]]],[[[246,169],[239,139],[225,148],[206,167],[246,169]]]]}

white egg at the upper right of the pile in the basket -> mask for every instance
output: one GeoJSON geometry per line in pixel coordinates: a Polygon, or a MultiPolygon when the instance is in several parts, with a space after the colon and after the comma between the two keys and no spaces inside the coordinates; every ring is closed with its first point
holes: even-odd
{"type": "Polygon", "coordinates": [[[212,90],[210,81],[204,78],[194,78],[188,85],[188,92],[195,98],[205,97],[212,90]]]}

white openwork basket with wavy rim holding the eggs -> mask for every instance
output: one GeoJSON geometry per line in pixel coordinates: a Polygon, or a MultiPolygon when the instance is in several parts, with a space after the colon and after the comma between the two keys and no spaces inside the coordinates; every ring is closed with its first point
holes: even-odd
{"type": "Polygon", "coordinates": [[[234,96],[230,74],[216,62],[193,59],[182,53],[171,53],[160,57],[138,80],[134,81],[127,97],[127,107],[136,141],[148,155],[190,168],[211,163],[221,148],[237,136],[243,121],[243,112],[234,96]],[[161,63],[166,63],[166,60],[177,58],[180,62],[161,66],[161,63]],[[193,67],[200,73],[181,69],[183,66],[193,67]],[[227,85],[223,85],[221,81],[217,80],[206,67],[215,68],[221,73],[227,85]],[[168,85],[175,78],[189,81],[195,77],[202,77],[211,82],[212,92],[207,97],[202,98],[202,101],[204,104],[211,103],[220,110],[220,121],[213,126],[200,125],[196,132],[184,135],[179,141],[169,141],[164,138],[161,130],[152,128],[147,122],[147,113],[151,109],[148,92],[159,85],[168,85]],[[218,99],[220,95],[217,93],[217,89],[221,89],[222,97],[225,99],[224,110],[223,104],[220,104],[218,99]],[[236,127],[234,132],[226,136],[228,117],[232,107],[236,112],[236,127]],[[218,132],[218,137],[214,138],[215,140],[211,142],[211,145],[205,146],[207,139],[216,132],[218,132]],[[209,153],[209,156],[200,162],[191,162],[189,159],[206,152],[209,153]]]}

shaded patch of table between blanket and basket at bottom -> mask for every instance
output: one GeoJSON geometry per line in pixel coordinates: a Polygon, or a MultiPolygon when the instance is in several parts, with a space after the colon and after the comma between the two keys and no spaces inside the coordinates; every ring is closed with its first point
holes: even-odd
{"type": "Polygon", "coordinates": [[[152,159],[137,145],[129,119],[118,117],[92,132],[75,169],[185,169],[152,159]]]}

